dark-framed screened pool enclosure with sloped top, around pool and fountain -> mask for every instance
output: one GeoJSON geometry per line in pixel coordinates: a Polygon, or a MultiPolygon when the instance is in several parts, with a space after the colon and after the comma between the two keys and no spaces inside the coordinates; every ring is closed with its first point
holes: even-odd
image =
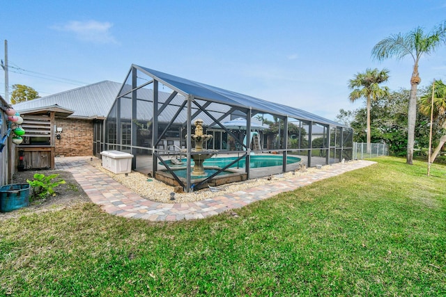
{"type": "Polygon", "coordinates": [[[311,167],[350,160],[353,146],[353,130],[337,122],[139,65],[130,67],[105,126],[95,134],[105,136],[101,150],[131,153],[132,170],[155,178],[166,173],[185,191],[209,184],[231,168],[229,175],[238,172],[251,179],[295,170],[301,163],[311,167]],[[191,137],[198,119],[212,136],[203,143],[204,151],[195,150],[191,137]],[[194,179],[194,154],[228,161],[194,179]],[[251,159],[260,156],[274,156],[276,162],[257,166],[251,159]]]}

